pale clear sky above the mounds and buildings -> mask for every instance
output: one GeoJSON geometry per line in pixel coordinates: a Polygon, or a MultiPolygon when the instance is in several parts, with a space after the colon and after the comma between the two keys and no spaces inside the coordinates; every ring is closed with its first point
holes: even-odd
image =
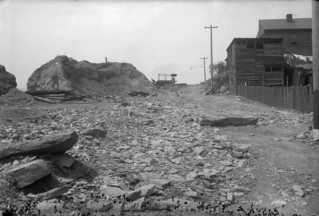
{"type": "Polygon", "coordinates": [[[259,19],[311,17],[311,0],[0,0],[0,64],[26,89],[34,70],[66,55],[78,61],[130,63],[149,80],[209,78],[234,38],[256,38],[259,19]],[[197,68],[191,67],[197,66],[197,68]]]}

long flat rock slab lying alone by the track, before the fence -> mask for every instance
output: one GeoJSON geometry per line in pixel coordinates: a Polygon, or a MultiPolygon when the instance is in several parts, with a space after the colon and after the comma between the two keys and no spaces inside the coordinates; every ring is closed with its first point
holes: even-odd
{"type": "Polygon", "coordinates": [[[230,115],[230,114],[220,114],[214,113],[207,116],[202,116],[199,118],[200,125],[218,126],[218,125],[255,125],[258,122],[258,117],[251,115],[230,115]]]}

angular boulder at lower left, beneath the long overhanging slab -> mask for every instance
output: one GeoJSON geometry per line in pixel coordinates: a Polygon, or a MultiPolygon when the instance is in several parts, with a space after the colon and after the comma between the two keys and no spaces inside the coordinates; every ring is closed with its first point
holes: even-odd
{"type": "Polygon", "coordinates": [[[3,175],[12,176],[16,180],[16,188],[22,188],[50,174],[53,170],[54,167],[50,161],[39,159],[21,164],[16,168],[4,172],[3,175]]]}

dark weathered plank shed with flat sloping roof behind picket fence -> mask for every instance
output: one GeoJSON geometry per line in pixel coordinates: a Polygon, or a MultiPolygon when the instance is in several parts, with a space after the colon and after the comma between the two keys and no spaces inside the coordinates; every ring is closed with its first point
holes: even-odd
{"type": "Polygon", "coordinates": [[[227,48],[229,86],[282,86],[283,38],[234,38],[227,48]]]}

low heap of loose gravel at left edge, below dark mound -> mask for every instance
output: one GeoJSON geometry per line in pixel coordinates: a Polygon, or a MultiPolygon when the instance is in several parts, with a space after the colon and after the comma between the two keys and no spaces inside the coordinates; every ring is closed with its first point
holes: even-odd
{"type": "Polygon", "coordinates": [[[28,95],[19,89],[11,88],[7,94],[0,96],[0,105],[12,107],[32,107],[41,103],[33,96],[28,95]]]}

